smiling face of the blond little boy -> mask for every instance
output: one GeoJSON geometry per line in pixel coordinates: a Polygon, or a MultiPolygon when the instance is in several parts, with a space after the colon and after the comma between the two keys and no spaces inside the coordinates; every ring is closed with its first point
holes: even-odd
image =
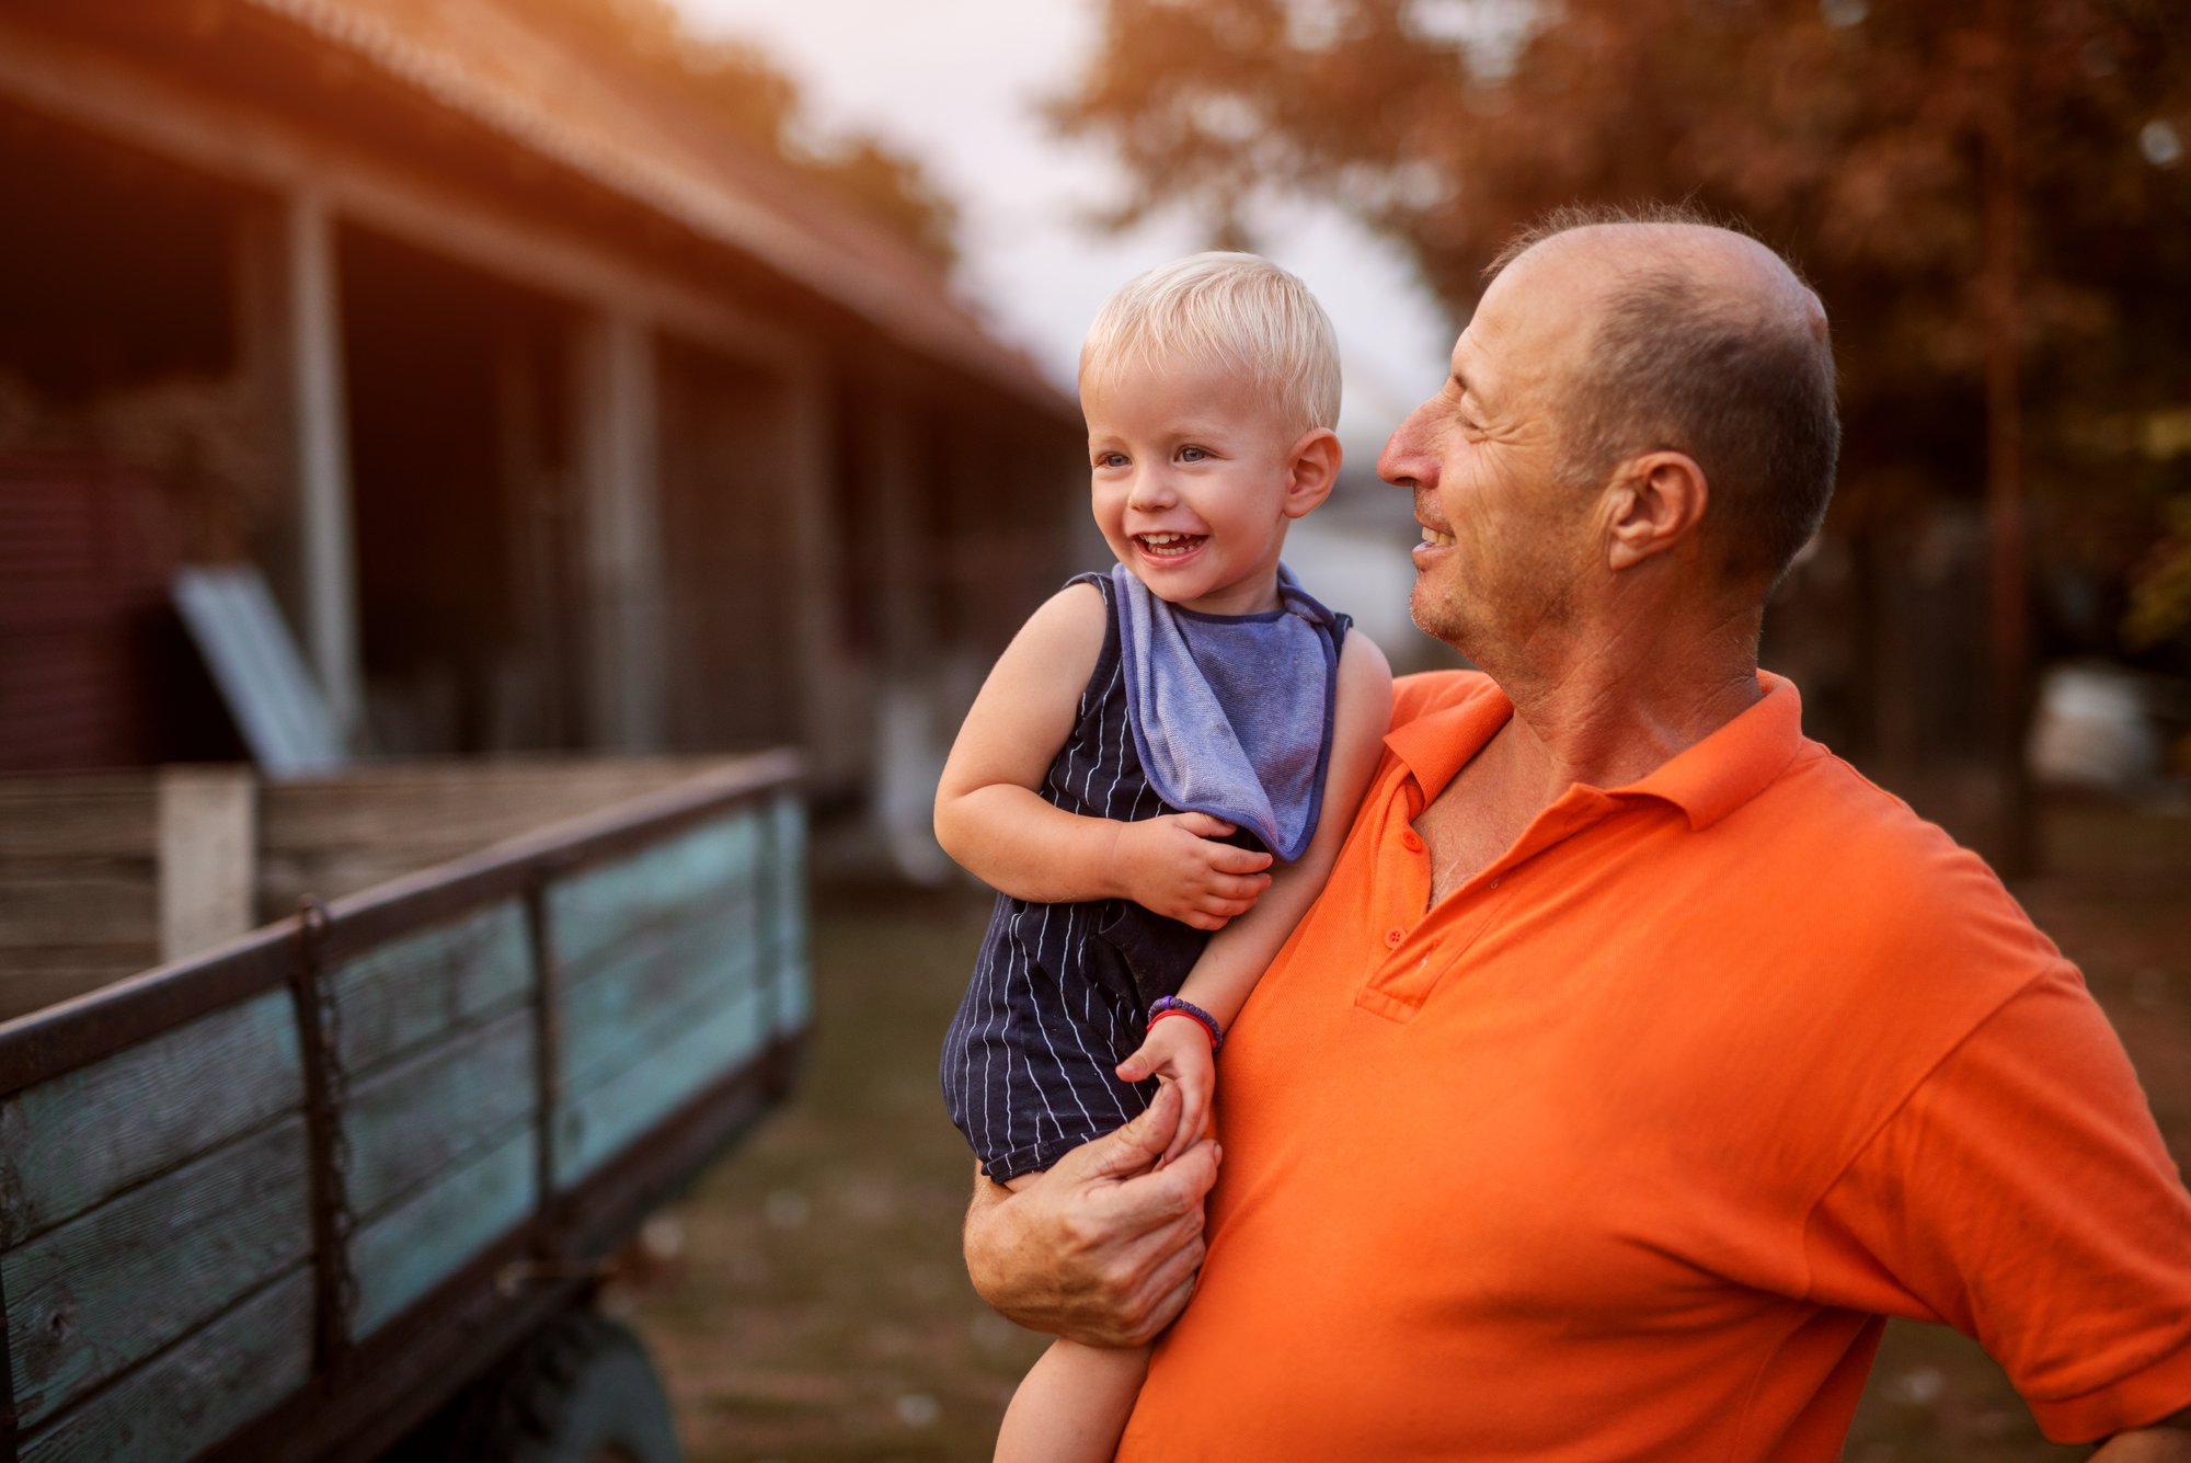
{"type": "MultiPolygon", "coordinates": [[[[1299,488],[1308,438],[1225,366],[1168,361],[1080,388],[1096,526],[1148,589],[1209,615],[1277,609],[1286,523],[1330,488],[1299,488]]],[[[1337,447],[1337,445],[1334,445],[1337,447]]]]}

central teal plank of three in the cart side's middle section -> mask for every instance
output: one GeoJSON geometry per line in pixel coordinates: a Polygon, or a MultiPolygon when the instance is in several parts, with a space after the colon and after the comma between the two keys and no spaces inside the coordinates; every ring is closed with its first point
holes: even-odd
{"type": "Polygon", "coordinates": [[[539,1108],[532,1007],[381,1069],[351,1088],[351,1207],[372,1218],[539,1108]]]}

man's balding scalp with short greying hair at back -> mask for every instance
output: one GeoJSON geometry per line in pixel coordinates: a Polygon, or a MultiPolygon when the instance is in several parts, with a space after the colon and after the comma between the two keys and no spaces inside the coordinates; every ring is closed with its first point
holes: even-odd
{"type": "Polygon", "coordinates": [[[1595,486],[1626,458],[1683,451],[1711,486],[1705,532],[1729,578],[1777,583],[1825,517],[1840,451],[1819,296],[1755,239],[1672,208],[1560,210],[1490,274],[1514,267],[1591,296],[1562,475],[1595,486]]]}

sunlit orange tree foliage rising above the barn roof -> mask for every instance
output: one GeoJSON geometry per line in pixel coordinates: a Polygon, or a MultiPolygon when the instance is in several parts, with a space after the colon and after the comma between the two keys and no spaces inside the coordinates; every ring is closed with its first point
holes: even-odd
{"type": "Polygon", "coordinates": [[[574,28],[609,64],[644,74],[695,114],[773,151],[861,208],[938,269],[957,261],[957,208],[920,164],[872,134],[822,136],[800,88],[760,48],[695,35],[668,0],[530,0],[574,28]]]}

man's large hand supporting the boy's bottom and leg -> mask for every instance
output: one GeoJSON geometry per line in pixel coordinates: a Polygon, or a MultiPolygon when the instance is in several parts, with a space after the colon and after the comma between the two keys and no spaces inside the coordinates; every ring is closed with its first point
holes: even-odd
{"type": "Polygon", "coordinates": [[[975,1178],[966,1272],[1019,1325],[1096,1347],[1137,1347],[1185,1308],[1203,1264],[1203,1198],[1218,1178],[1201,1141],[1157,1172],[1179,1128],[1166,1084],[1148,1113],[1082,1143],[1021,1189],[975,1178]]]}

